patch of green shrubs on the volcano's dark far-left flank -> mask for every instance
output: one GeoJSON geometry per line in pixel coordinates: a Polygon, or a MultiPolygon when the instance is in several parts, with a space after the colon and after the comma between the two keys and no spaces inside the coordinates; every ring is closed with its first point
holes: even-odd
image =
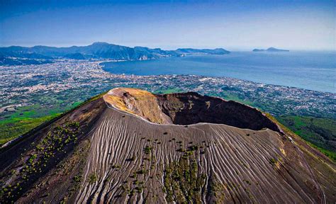
{"type": "MultiPolygon", "coordinates": [[[[80,124],[77,121],[67,120],[52,127],[37,144],[32,142],[30,144],[32,149],[29,150],[28,157],[26,157],[26,165],[20,171],[15,172],[18,183],[13,187],[11,185],[7,186],[11,189],[9,192],[13,191],[14,193],[15,191],[16,195],[20,195],[22,188],[18,186],[26,186],[26,183],[35,181],[39,175],[47,171],[50,164],[55,164],[60,157],[63,157],[62,155],[67,153],[66,150],[73,147],[74,143],[77,142],[79,129],[80,124]]],[[[26,150],[24,149],[24,151],[26,150]]],[[[21,155],[23,156],[23,154],[21,155]]],[[[25,157],[21,157],[21,159],[25,160],[25,157]]],[[[61,166],[61,164],[57,166],[61,166]]],[[[74,177],[74,183],[78,183],[78,180],[79,177],[74,177]]],[[[39,186],[35,188],[39,188],[39,186]]],[[[13,198],[13,194],[9,192],[3,195],[4,198],[13,198]]]]}

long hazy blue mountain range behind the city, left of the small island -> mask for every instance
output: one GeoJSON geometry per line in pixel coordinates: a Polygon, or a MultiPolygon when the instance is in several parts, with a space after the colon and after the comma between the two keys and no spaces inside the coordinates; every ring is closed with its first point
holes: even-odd
{"type": "Polygon", "coordinates": [[[73,60],[154,60],[162,57],[184,57],[184,55],[225,55],[228,50],[222,48],[177,50],[150,49],[148,47],[126,47],[107,42],[94,42],[88,46],[72,47],[0,47],[0,65],[43,64],[56,59],[73,60]]]}

